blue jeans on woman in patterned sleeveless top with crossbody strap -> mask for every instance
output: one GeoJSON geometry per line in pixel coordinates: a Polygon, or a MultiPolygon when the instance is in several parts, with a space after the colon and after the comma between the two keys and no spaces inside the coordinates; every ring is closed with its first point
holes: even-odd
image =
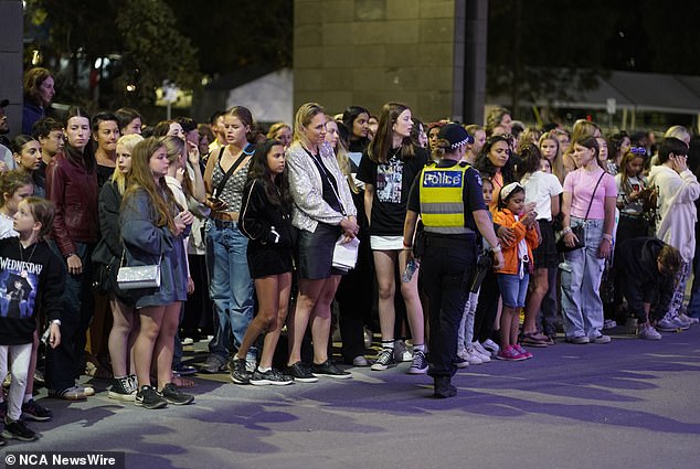
{"type": "Polygon", "coordinates": [[[226,358],[241,345],[253,320],[253,280],[246,257],[248,238],[238,231],[236,222],[208,220],[205,230],[209,291],[218,320],[216,335],[209,351],[226,358]]]}

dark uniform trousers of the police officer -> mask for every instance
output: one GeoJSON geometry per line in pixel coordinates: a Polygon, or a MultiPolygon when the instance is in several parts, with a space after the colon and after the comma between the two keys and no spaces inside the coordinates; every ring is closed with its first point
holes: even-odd
{"type": "Polygon", "coordinates": [[[457,333],[476,269],[476,235],[426,233],[421,258],[421,281],[427,297],[431,367],[433,377],[453,376],[457,333]]]}

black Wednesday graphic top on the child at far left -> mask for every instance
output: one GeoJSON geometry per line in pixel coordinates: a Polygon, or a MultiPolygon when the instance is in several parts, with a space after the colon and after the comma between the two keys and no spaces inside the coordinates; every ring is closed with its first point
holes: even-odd
{"type": "Polygon", "coordinates": [[[23,248],[18,237],[0,239],[0,345],[31,342],[40,308],[61,319],[64,285],[61,259],[45,242],[23,248]]]}

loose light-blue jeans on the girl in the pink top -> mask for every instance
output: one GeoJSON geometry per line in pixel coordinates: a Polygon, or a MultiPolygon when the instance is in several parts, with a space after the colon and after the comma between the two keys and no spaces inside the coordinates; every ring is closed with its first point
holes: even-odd
{"type": "MultiPolygon", "coordinates": [[[[582,218],[571,217],[571,226],[584,224],[582,218]]],[[[603,328],[603,301],[600,287],[605,259],[597,256],[603,239],[603,220],[585,222],[586,246],[564,254],[559,265],[562,271],[562,312],[568,339],[601,335],[603,328]]]]}

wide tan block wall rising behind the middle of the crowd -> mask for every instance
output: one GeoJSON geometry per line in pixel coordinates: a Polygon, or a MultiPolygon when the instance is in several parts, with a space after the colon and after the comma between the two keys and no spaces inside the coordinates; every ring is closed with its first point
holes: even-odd
{"type": "Polygon", "coordinates": [[[466,0],[295,0],[294,106],[462,119],[466,0]]]}

